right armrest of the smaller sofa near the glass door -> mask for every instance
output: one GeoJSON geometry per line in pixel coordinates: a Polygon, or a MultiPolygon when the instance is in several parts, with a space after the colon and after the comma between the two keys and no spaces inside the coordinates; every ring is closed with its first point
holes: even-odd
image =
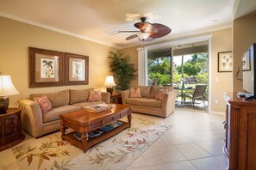
{"type": "Polygon", "coordinates": [[[167,114],[170,114],[175,110],[176,95],[177,95],[177,90],[172,90],[171,92],[164,94],[164,99],[162,101],[162,109],[167,114]]]}

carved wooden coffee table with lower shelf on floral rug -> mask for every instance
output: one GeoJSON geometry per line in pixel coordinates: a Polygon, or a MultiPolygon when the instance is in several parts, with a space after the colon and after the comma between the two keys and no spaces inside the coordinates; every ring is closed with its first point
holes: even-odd
{"type": "Polygon", "coordinates": [[[84,109],[60,114],[60,131],[61,138],[76,145],[78,148],[83,149],[86,152],[86,149],[91,146],[102,142],[103,140],[112,137],[119,131],[131,126],[131,106],[118,105],[116,104],[114,108],[109,111],[104,112],[87,112],[84,109]],[[128,117],[128,122],[123,122],[119,120],[123,117],[128,117]],[[103,132],[99,137],[88,138],[88,133],[94,131],[97,128],[100,128],[106,124],[109,124],[114,121],[121,121],[122,125],[116,127],[111,131],[103,132]],[[66,134],[66,129],[71,128],[72,132],[66,134]],[[81,133],[81,140],[78,140],[77,137],[74,137],[74,133],[79,131],[81,133]]]}

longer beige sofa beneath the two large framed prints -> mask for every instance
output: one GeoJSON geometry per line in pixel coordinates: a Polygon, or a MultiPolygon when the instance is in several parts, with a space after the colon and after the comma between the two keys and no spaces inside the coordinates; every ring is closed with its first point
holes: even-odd
{"type": "Polygon", "coordinates": [[[59,114],[80,110],[83,106],[99,103],[109,103],[110,94],[102,92],[103,101],[88,102],[90,90],[93,88],[75,90],[66,89],[58,93],[48,93],[53,109],[42,114],[41,107],[34,102],[34,97],[42,94],[30,94],[29,99],[19,100],[22,105],[22,127],[33,137],[41,137],[47,133],[58,131],[60,128],[59,114]]]}

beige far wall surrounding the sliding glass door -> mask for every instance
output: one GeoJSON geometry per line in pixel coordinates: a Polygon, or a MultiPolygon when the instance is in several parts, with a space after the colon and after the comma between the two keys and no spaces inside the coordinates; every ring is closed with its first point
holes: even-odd
{"type": "MultiPolygon", "coordinates": [[[[180,39],[187,39],[191,37],[196,36],[202,36],[206,34],[212,34],[211,39],[211,58],[210,58],[210,64],[211,64],[211,70],[210,76],[211,76],[211,111],[213,112],[225,112],[225,101],[223,98],[224,92],[231,91],[231,85],[232,85],[232,73],[231,72],[218,72],[217,68],[217,62],[218,62],[218,52],[230,52],[232,51],[232,29],[223,29],[215,32],[210,33],[202,33],[190,37],[184,37],[180,39]],[[218,82],[215,82],[215,78],[218,79],[218,82]],[[215,100],[218,100],[218,104],[215,104],[215,100]]],[[[172,39],[172,40],[178,40],[178,39],[172,39]]],[[[137,47],[131,47],[122,49],[123,52],[129,54],[131,56],[132,63],[138,68],[138,53],[137,53],[137,47]]],[[[137,81],[133,81],[133,84],[137,84],[137,81]]]]}

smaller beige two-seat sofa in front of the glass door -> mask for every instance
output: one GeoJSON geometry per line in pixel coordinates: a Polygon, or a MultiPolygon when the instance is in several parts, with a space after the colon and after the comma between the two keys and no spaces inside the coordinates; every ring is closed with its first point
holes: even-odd
{"type": "Polygon", "coordinates": [[[172,87],[138,86],[135,88],[140,88],[140,98],[130,98],[130,90],[122,91],[122,104],[133,106],[133,112],[146,113],[163,118],[174,112],[177,91],[173,90],[172,87]],[[169,92],[164,94],[162,101],[156,100],[155,95],[163,88],[167,88],[169,92]]]}

